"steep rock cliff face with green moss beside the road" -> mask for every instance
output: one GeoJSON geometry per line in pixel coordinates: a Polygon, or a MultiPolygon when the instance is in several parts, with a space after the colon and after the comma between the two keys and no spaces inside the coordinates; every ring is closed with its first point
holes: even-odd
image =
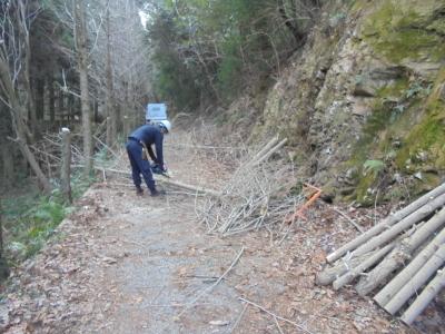
{"type": "Polygon", "coordinates": [[[298,167],[336,200],[436,186],[445,175],[445,2],[334,2],[268,91],[251,136],[288,137],[298,167]]]}

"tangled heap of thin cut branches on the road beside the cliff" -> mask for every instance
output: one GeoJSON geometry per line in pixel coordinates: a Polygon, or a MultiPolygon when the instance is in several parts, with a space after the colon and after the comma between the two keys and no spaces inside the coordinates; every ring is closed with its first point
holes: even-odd
{"type": "Polygon", "coordinates": [[[197,213],[208,232],[224,236],[258,229],[283,223],[304,202],[301,195],[280,196],[288,177],[286,166],[278,167],[267,159],[283,147],[286,139],[278,137],[267,143],[260,150],[248,153],[244,164],[234,171],[221,195],[208,196],[197,213]]]}

